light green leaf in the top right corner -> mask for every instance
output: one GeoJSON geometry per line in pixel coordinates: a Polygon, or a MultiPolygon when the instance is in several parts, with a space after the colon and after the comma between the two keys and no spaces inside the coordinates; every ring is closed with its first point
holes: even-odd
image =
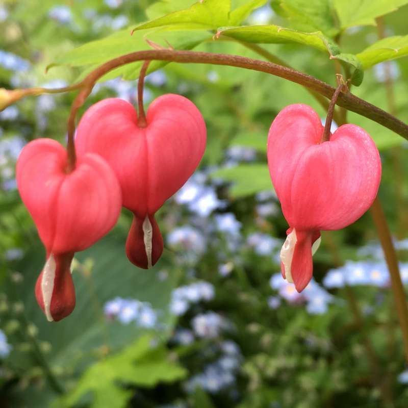
{"type": "Polygon", "coordinates": [[[335,0],[341,29],[354,25],[375,25],[375,18],[391,13],[407,0],[335,0]]]}

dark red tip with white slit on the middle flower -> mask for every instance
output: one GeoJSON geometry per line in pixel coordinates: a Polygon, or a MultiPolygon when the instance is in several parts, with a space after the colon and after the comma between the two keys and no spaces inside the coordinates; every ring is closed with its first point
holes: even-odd
{"type": "Polygon", "coordinates": [[[126,240],[126,256],[142,269],[153,267],[163,253],[163,237],[154,215],[140,218],[135,214],[126,240]]]}

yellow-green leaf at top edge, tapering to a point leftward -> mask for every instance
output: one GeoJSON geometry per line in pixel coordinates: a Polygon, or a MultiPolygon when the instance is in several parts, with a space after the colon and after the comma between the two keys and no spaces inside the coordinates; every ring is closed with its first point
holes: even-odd
{"type": "Polygon", "coordinates": [[[202,0],[194,3],[188,10],[180,10],[139,25],[134,30],[158,27],[216,30],[229,21],[231,0],[202,0]]]}

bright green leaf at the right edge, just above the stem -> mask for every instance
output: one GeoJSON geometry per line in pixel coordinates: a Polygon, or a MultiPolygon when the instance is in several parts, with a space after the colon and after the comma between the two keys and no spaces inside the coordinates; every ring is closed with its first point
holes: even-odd
{"type": "Polygon", "coordinates": [[[393,60],[408,55],[408,35],[384,38],[367,47],[357,57],[364,68],[380,62],[393,60]]]}

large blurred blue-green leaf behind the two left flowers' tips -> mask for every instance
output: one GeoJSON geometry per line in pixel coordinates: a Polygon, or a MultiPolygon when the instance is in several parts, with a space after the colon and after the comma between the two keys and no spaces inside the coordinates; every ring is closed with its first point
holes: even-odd
{"type": "MultiPolygon", "coordinates": [[[[81,264],[94,262],[94,266],[91,271],[86,268],[74,270],[77,304],[72,314],[58,323],[46,320],[35,299],[35,282],[45,263],[42,246],[33,247],[27,257],[13,267],[24,276],[24,281],[16,288],[16,299],[10,301],[24,304],[24,316],[38,328],[38,338],[52,347],[47,354],[50,366],[64,376],[75,372],[78,366],[86,367],[93,362],[95,350],[100,347],[115,350],[148,331],[135,323],[125,325],[104,318],[104,304],[117,296],[149,302],[152,309],[159,312],[158,323],[166,327],[161,337],[165,339],[170,335],[174,316],[168,312],[168,304],[176,286],[176,276],[169,275],[164,281],[158,278],[161,270],[170,267],[169,254],[163,254],[154,268],[145,271],[127,260],[124,243],[124,237],[111,233],[86,251],[75,254],[81,264]]],[[[7,293],[15,292],[8,286],[7,293]]],[[[15,343],[21,341],[28,340],[14,339],[15,343]]],[[[30,355],[18,350],[13,350],[8,359],[22,368],[30,365],[30,355]]]]}

